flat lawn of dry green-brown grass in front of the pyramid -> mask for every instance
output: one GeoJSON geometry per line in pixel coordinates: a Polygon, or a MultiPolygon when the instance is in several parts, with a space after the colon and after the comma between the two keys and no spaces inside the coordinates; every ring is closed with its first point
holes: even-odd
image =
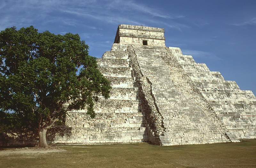
{"type": "Polygon", "coordinates": [[[0,153],[0,167],[256,167],[256,140],[181,146],[140,143],[66,145],[60,148],[66,151],[45,154],[0,153]]]}

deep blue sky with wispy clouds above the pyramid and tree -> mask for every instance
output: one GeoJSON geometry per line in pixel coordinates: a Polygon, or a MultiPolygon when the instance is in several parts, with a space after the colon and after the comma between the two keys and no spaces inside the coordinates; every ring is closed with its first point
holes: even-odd
{"type": "Polygon", "coordinates": [[[256,0],[1,0],[0,30],[79,34],[101,58],[119,24],[164,28],[166,47],[256,93],[256,0]]]}

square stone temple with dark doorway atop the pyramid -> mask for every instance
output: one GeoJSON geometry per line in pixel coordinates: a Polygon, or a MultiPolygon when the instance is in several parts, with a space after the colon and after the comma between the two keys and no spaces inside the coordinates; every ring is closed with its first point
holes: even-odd
{"type": "Polygon", "coordinates": [[[165,47],[164,28],[118,25],[114,43],[165,47]]]}

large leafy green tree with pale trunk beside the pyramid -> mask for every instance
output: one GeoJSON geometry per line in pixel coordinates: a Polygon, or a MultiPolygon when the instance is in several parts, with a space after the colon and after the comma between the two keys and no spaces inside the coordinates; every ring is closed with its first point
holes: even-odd
{"type": "Polygon", "coordinates": [[[0,110],[35,128],[38,147],[48,147],[47,129],[68,110],[87,108],[94,118],[97,95],[109,98],[110,83],[88,49],[78,34],[38,33],[33,26],[0,32],[0,110]]]}

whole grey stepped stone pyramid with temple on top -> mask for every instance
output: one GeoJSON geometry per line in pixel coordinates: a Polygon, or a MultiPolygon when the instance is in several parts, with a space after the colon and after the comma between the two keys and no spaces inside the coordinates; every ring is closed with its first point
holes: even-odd
{"type": "Polygon", "coordinates": [[[166,47],[163,28],[119,25],[111,51],[98,59],[113,87],[95,103],[96,117],[69,112],[52,143],[158,145],[256,138],[256,98],[220,72],[166,47]]]}

